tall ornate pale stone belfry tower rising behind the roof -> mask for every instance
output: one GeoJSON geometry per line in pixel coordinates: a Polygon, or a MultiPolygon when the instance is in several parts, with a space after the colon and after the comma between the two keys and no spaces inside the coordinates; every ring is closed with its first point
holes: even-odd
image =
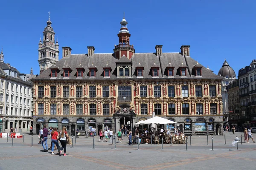
{"type": "Polygon", "coordinates": [[[43,42],[40,37],[38,44],[38,62],[40,66],[40,73],[58,61],[59,45],[58,39],[55,42],[55,32],[52,28],[50,13],[47,26],[44,28],[43,34],[43,42]]]}

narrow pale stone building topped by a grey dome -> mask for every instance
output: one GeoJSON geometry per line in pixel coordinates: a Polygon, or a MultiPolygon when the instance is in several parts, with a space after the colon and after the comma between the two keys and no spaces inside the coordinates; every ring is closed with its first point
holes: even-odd
{"type": "Polygon", "coordinates": [[[226,59],[218,72],[218,75],[223,77],[221,81],[221,94],[222,94],[222,102],[223,102],[223,114],[224,114],[224,124],[228,124],[228,117],[229,117],[229,101],[228,101],[228,94],[227,94],[227,85],[230,82],[236,80],[236,73],[233,68],[227,63],[226,59]]]}

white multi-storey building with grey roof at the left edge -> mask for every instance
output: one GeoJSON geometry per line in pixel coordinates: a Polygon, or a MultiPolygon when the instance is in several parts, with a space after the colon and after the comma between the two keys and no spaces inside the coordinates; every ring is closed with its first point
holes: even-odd
{"type": "Polygon", "coordinates": [[[29,130],[32,125],[32,82],[10,64],[0,53],[0,133],[29,130]]]}

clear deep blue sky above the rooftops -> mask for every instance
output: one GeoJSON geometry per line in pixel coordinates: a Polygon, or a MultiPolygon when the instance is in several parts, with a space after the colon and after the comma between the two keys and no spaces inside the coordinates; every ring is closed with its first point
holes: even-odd
{"type": "Polygon", "coordinates": [[[3,0],[0,6],[4,61],[22,73],[33,67],[39,74],[38,42],[48,11],[60,49],[70,46],[72,54],[87,53],[87,46],[112,53],[125,12],[135,52],[155,52],[155,45],[180,52],[191,45],[190,56],[215,74],[226,58],[236,76],[256,59],[255,0],[3,0]]]}

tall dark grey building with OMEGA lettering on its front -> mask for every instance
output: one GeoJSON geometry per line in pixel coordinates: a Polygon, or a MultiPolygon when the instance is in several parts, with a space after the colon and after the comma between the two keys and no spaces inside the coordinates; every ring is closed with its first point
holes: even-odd
{"type": "Polygon", "coordinates": [[[238,72],[239,79],[239,100],[240,100],[240,114],[244,117],[245,126],[250,125],[250,109],[248,104],[250,102],[249,95],[249,81],[248,81],[248,71],[249,66],[241,68],[238,72]]]}

